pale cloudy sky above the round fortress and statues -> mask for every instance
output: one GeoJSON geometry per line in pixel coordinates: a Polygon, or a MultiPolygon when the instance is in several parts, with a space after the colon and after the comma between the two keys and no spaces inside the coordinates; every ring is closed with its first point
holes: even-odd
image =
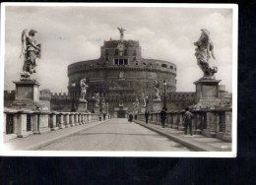
{"type": "MultiPolygon", "coordinates": [[[[201,29],[210,31],[215,45],[217,80],[232,92],[232,9],[172,7],[7,6],[5,9],[4,89],[14,90],[24,59],[20,58],[24,29],[36,30],[41,59],[32,75],[40,90],[68,92],[68,65],[97,59],[104,40],[139,40],[145,59],[170,61],[177,66],[177,92],[195,92],[203,77],[194,42],[201,29]]],[[[3,62],[3,61],[2,61],[3,62]]]]}

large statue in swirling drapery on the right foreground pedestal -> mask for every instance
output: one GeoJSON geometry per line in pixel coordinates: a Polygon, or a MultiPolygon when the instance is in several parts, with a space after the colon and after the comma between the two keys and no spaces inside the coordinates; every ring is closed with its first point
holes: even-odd
{"type": "Polygon", "coordinates": [[[197,65],[204,73],[202,79],[215,79],[214,74],[217,73],[218,68],[216,66],[211,67],[209,64],[209,60],[211,58],[216,60],[214,54],[214,43],[210,38],[210,31],[206,29],[202,29],[201,31],[201,36],[196,42],[194,42],[194,45],[197,46],[195,53],[197,65]]]}

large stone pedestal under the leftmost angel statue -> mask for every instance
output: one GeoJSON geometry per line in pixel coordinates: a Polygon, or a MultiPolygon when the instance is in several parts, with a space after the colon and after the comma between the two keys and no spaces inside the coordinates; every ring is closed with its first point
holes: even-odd
{"type": "Polygon", "coordinates": [[[47,106],[39,102],[40,84],[34,80],[14,82],[16,85],[13,108],[48,110],[47,106]]]}

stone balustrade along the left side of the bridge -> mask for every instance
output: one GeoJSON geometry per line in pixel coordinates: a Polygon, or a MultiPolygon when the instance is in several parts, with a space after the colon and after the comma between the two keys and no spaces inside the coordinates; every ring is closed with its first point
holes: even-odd
{"type": "Polygon", "coordinates": [[[98,121],[95,113],[32,110],[4,110],[4,140],[74,127],[98,121]]]}

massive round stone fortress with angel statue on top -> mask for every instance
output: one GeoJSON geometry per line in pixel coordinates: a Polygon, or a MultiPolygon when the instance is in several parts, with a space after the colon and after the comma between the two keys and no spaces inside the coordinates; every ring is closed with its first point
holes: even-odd
{"type": "Polygon", "coordinates": [[[81,92],[80,81],[86,79],[89,86],[88,109],[93,108],[91,102],[98,92],[100,99],[108,102],[109,113],[114,117],[133,112],[134,102],[143,105],[143,96],[153,98],[156,81],[160,90],[165,81],[166,92],[176,91],[176,65],[170,61],[143,58],[140,42],[123,39],[123,30],[120,31],[120,39],[104,41],[98,59],[69,65],[68,78],[69,93],[74,91],[77,95],[81,92]],[[75,88],[72,86],[74,83],[77,85],[75,88]]]}

